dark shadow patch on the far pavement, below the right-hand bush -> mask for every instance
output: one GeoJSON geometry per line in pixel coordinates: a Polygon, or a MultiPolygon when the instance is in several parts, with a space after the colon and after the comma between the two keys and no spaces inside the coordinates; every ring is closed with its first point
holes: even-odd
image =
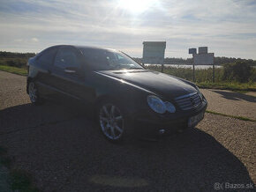
{"type": "Polygon", "coordinates": [[[227,100],[246,100],[248,102],[256,102],[256,97],[252,95],[247,95],[239,92],[223,92],[223,91],[216,91],[213,90],[212,92],[216,92],[222,95],[223,98],[227,100]]]}

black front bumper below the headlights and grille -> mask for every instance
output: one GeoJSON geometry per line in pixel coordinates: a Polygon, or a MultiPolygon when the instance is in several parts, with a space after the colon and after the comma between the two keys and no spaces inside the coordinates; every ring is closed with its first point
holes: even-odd
{"type": "MultiPolygon", "coordinates": [[[[205,113],[207,100],[203,100],[199,107],[188,111],[180,111],[175,114],[155,114],[145,112],[137,115],[133,120],[133,127],[136,134],[142,137],[159,137],[169,135],[180,129],[187,129],[190,117],[205,113]]],[[[194,125],[195,126],[195,125],[194,125]]]]}

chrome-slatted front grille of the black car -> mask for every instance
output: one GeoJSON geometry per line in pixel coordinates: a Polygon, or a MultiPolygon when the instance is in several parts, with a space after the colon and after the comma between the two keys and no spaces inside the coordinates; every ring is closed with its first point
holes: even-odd
{"type": "Polygon", "coordinates": [[[175,101],[177,102],[178,107],[180,107],[182,110],[189,110],[193,107],[198,107],[202,102],[198,92],[182,95],[177,97],[175,101]]]}

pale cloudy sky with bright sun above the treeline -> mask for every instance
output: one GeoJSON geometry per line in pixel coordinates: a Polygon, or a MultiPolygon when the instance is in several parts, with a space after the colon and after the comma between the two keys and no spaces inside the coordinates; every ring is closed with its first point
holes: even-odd
{"type": "Polygon", "coordinates": [[[165,56],[256,59],[256,0],[0,0],[0,50],[39,52],[56,44],[142,55],[143,41],[167,41],[165,56]]]}

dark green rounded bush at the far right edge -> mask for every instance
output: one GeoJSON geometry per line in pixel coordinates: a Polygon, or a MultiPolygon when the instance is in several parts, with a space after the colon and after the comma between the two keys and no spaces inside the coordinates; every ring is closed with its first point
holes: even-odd
{"type": "Polygon", "coordinates": [[[226,63],[223,65],[222,80],[246,83],[250,81],[253,72],[252,70],[254,69],[252,68],[251,64],[244,61],[226,63]]]}

